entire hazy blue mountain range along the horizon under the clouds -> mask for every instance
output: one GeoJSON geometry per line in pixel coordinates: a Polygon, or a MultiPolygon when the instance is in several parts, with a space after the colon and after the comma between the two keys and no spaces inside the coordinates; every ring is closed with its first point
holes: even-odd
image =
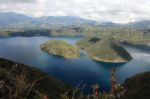
{"type": "Polygon", "coordinates": [[[40,18],[29,17],[13,12],[0,13],[0,27],[51,27],[51,26],[82,26],[96,25],[101,27],[124,28],[150,28],[150,20],[131,22],[128,24],[116,24],[113,22],[97,22],[72,16],[44,16],[40,18]]]}

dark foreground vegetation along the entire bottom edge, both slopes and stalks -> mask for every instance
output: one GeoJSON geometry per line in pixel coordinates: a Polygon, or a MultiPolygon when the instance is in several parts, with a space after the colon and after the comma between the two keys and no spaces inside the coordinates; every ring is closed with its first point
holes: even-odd
{"type": "Polygon", "coordinates": [[[24,64],[0,58],[0,98],[1,99],[149,99],[150,72],[137,74],[117,83],[112,69],[110,92],[99,92],[99,85],[92,85],[91,94],[85,96],[80,83],[72,88],[48,76],[40,70],[24,64]]]}

